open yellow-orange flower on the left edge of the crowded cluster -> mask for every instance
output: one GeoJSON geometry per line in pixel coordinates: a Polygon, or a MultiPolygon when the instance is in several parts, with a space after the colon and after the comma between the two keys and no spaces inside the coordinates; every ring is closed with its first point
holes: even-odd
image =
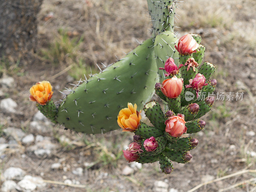
{"type": "Polygon", "coordinates": [[[128,108],[121,109],[119,112],[117,123],[123,129],[123,132],[134,132],[140,124],[141,110],[139,112],[136,109],[136,103],[134,104],[134,107],[132,103],[128,103],[128,108]]]}

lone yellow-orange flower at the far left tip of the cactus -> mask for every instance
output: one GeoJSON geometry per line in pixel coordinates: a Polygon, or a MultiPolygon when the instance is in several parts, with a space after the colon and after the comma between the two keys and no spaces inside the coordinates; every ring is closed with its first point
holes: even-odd
{"type": "Polygon", "coordinates": [[[49,81],[41,81],[33,85],[29,92],[30,100],[45,105],[52,98],[52,85],[49,81]]]}

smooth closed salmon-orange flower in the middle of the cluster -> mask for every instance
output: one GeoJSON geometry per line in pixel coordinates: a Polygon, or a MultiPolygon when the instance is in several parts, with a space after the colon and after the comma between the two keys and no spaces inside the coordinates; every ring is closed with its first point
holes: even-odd
{"type": "Polygon", "coordinates": [[[171,79],[165,79],[162,83],[161,91],[168,98],[176,98],[180,95],[183,88],[183,79],[173,76],[171,79]]]}

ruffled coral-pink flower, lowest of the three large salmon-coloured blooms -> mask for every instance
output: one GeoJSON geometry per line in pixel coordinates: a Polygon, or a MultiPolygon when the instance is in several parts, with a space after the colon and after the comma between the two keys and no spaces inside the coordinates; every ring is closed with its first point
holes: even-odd
{"type": "Polygon", "coordinates": [[[164,123],[166,125],[165,131],[172,137],[180,137],[183,133],[187,132],[185,123],[184,115],[171,116],[164,123]]]}

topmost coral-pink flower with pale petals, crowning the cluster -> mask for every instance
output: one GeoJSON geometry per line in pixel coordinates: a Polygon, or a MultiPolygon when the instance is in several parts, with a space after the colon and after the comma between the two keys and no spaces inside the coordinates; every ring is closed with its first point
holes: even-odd
{"type": "Polygon", "coordinates": [[[184,35],[180,37],[178,41],[178,46],[175,45],[175,49],[180,53],[180,55],[189,55],[195,53],[199,44],[191,34],[184,35]]]}

